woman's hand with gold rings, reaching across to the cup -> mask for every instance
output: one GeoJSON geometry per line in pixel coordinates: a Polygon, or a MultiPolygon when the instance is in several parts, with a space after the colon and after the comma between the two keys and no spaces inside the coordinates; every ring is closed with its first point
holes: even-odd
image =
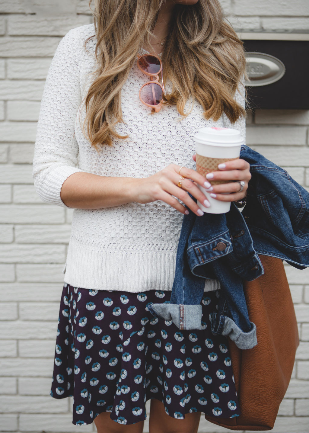
{"type": "Polygon", "coordinates": [[[203,215],[203,211],[192,200],[188,192],[200,203],[204,204],[204,206],[209,207],[210,203],[196,184],[200,184],[204,188],[211,186],[209,181],[197,173],[197,171],[187,167],[180,167],[180,165],[170,164],[148,178],[134,179],[132,184],[134,188],[134,200],[132,201],[150,203],[151,201],[162,200],[181,213],[188,214],[189,211],[179,203],[175,198],[177,197],[196,215],[201,216],[203,215]],[[182,176],[184,179],[180,179],[182,176]],[[179,181],[181,182],[181,188],[177,186],[179,181]]]}

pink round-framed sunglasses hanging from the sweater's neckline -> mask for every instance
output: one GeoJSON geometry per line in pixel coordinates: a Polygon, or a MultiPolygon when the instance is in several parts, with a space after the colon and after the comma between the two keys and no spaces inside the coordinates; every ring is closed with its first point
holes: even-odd
{"type": "Polygon", "coordinates": [[[144,74],[151,78],[151,81],[143,84],[140,88],[139,99],[148,107],[154,108],[155,112],[158,113],[162,107],[162,97],[164,94],[161,59],[155,54],[143,54],[138,56],[137,66],[144,74]],[[162,84],[159,83],[160,72],[162,84]]]}

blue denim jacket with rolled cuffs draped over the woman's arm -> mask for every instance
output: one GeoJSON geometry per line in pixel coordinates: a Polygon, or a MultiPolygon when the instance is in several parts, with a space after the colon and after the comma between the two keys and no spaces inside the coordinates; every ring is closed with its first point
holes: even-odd
{"type": "Polygon", "coordinates": [[[228,213],[196,216],[189,209],[183,216],[171,304],[148,308],[179,329],[201,329],[205,284],[216,279],[221,289],[212,333],[251,349],[257,344],[256,327],[248,317],[242,281],[264,273],[259,254],[298,269],[309,266],[309,193],[249,147],[241,147],[240,157],[250,163],[252,175],[244,210],[231,203],[228,213]]]}

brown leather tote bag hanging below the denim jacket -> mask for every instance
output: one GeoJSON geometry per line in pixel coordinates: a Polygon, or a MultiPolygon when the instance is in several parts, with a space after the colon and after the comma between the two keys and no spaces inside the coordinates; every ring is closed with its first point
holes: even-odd
{"type": "Polygon", "coordinates": [[[290,288],[281,259],[260,256],[264,275],[244,281],[249,318],[257,327],[258,345],[229,349],[241,415],[206,416],[230,430],[271,430],[289,385],[299,337],[290,288]]]}

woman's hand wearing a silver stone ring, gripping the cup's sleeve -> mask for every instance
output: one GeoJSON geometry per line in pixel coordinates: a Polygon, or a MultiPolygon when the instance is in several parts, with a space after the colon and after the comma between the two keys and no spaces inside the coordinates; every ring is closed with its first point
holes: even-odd
{"type": "MultiPolygon", "coordinates": [[[[193,155],[192,158],[196,161],[196,155],[193,155]]],[[[206,191],[210,193],[210,197],[221,201],[241,200],[247,195],[248,182],[251,179],[250,164],[240,158],[227,161],[224,164],[218,165],[218,171],[206,174],[206,179],[209,181],[234,181],[206,188],[206,191]],[[240,191],[241,186],[239,181],[245,182],[242,191],[240,191]]]]}

